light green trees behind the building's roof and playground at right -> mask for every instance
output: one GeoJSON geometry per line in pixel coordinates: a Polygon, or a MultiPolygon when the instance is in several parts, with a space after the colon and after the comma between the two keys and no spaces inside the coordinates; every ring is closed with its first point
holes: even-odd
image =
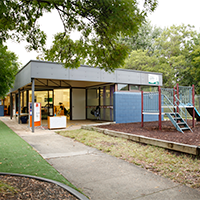
{"type": "Polygon", "coordinates": [[[198,36],[192,26],[173,25],[155,39],[152,54],[148,50],[133,51],[124,67],[163,73],[165,87],[173,87],[176,83],[192,85],[190,53],[197,43],[198,36]]]}

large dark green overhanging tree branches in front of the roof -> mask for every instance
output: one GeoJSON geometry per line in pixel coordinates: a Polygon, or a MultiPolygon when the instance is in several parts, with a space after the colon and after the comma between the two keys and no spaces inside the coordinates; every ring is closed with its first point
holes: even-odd
{"type": "Polygon", "coordinates": [[[137,0],[2,0],[0,1],[0,40],[22,39],[29,49],[42,49],[45,59],[64,62],[65,67],[87,64],[113,70],[123,64],[128,48],[117,42],[121,32],[137,32],[147,14],[155,10],[157,0],[145,0],[139,9],[137,0]],[[51,49],[44,49],[46,35],[37,25],[44,12],[56,9],[64,32],[55,36],[51,49]],[[69,37],[73,30],[80,40],[69,37]]]}

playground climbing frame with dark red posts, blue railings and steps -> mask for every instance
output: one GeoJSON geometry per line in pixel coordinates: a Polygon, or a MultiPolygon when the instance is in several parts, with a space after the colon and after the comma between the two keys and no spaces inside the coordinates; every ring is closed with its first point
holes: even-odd
{"type": "Polygon", "coordinates": [[[144,115],[158,115],[159,130],[162,127],[162,118],[166,115],[176,129],[183,133],[191,130],[187,124],[187,112],[192,116],[192,127],[195,120],[200,121],[200,113],[195,108],[194,85],[192,87],[179,86],[176,88],[158,87],[158,92],[141,92],[141,123],[144,125],[144,115]]]}

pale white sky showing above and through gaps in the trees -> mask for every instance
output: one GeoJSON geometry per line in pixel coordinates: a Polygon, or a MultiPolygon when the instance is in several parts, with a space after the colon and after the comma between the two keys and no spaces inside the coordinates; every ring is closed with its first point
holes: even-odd
{"type": "MultiPolygon", "coordinates": [[[[164,28],[173,24],[190,24],[200,32],[200,0],[158,0],[156,10],[149,15],[152,25],[164,28]]],[[[47,13],[40,19],[41,29],[47,33],[47,47],[51,46],[53,35],[63,30],[61,20],[57,12],[47,13]]],[[[72,39],[78,38],[78,34],[72,34],[72,39]]],[[[35,51],[28,52],[25,49],[25,42],[14,43],[7,42],[8,49],[15,52],[18,61],[22,66],[30,60],[35,60],[38,53],[35,51]]]]}

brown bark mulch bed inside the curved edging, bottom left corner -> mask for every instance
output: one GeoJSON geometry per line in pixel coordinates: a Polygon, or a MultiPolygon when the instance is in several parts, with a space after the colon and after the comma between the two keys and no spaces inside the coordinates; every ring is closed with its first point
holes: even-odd
{"type": "Polygon", "coordinates": [[[0,199],[68,199],[77,200],[75,196],[56,184],[36,179],[0,175],[0,182],[6,183],[15,188],[15,191],[0,191],[0,199]]]}

